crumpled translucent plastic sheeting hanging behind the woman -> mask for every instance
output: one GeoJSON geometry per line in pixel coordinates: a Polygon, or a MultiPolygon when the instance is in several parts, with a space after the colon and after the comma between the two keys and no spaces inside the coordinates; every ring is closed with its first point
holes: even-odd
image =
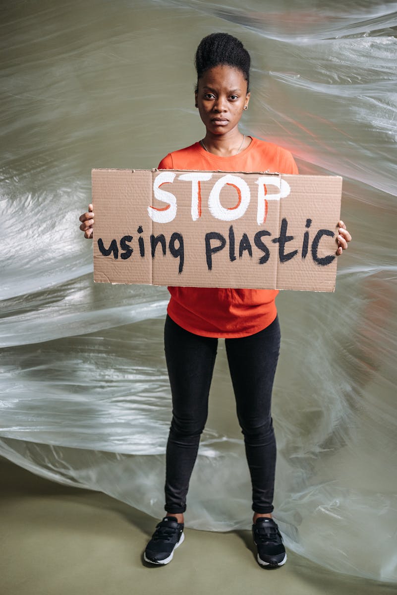
{"type": "MultiPolygon", "coordinates": [[[[4,3],[0,453],[163,515],[168,292],[94,285],[78,216],[92,167],[156,167],[203,136],[193,55],[228,31],[253,58],[242,130],[343,176],[354,236],[335,294],[278,296],[275,516],[295,552],[395,581],[397,4],[240,4],[4,3]]],[[[220,342],[188,527],[249,528],[250,492],[220,342]]]]}

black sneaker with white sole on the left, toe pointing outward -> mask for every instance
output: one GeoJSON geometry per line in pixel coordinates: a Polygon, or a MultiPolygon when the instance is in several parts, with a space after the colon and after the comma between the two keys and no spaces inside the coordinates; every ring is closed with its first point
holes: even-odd
{"type": "Polygon", "coordinates": [[[184,541],[183,528],[184,524],[178,522],[175,516],[165,516],[156,525],[156,531],[146,546],[144,560],[152,564],[171,562],[175,547],[184,541]]]}

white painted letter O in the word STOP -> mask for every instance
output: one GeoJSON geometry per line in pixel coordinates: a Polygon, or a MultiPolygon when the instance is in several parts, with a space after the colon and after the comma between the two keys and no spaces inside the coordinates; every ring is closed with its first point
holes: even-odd
{"type": "Polygon", "coordinates": [[[216,219],[222,221],[234,221],[235,219],[242,217],[245,211],[247,211],[248,205],[250,204],[250,198],[250,188],[247,182],[238,176],[227,174],[226,176],[219,178],[214,184],[209,195],[208,208],[216,219]],[[223,186],[226,186],[226,184],[228,186],[234,186],[238,193],[237,205],[227,209],[220,204],[219,199],[220,190],[222,190],[223,186]]]}

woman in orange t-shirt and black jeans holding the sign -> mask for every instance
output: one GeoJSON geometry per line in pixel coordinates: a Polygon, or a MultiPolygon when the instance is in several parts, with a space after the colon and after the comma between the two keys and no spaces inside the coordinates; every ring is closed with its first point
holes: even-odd
{"type": "MultiPolygon", "coordinates": [[[[159,169],[278,171],[297,174],[289,151],[238,130],[250,101],[250,55],[227,33],[213,33],[198,45],[196,108],[206,127],[200,142],[169,153],[159,169]]],[[[92,205],[80,229],[92,237],[92,205]]],[[[339,221],[339,255],[351,236],[339,221]]],[[[165,511],[147,544],[144,559],[171,561],[184,540],[188,484],[196,461],[218,338],[225,339],[229,369],[244,434],[253,496],[253,538],[260,565],[282,566],[285,547],[272,518],[276,442],[270,414],[279,355],[277,290],[169,287],[165,355],[172,392],[172,422],[166,449],[165,511]]]]}

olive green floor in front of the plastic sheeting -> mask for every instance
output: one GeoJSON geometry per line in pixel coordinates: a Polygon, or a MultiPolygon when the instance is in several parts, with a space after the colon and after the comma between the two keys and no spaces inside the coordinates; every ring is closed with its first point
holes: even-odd
{"type": "Polygon", "coordinates": [[[395,585],[327,571],[288,552],[257,565],[249,531],[185,531],[168,566],[145,565],[155,519],[105,494],[61,486],[0,457],[1,595],[382,595],[395,585]]]}

